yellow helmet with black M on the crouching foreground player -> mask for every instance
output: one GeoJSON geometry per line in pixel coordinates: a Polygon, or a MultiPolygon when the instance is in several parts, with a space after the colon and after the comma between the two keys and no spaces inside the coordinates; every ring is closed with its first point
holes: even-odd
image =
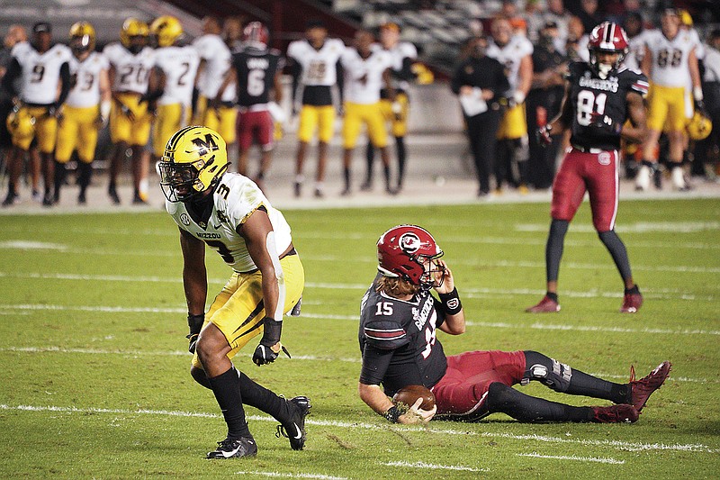
{"type": "Polygon", "coordinates": [[[167,200],[187,202],[214,188],[228,166],[228,149],[220,133],[191,126],[167,140],[157,173],[167,200]]]}

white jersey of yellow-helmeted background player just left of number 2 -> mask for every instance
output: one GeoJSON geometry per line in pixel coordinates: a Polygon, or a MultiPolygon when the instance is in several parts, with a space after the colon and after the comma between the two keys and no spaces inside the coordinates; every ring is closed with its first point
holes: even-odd
{"type": "Polygon", "coordinates": [[[115,42],[105,47],[103,54],[115,68],[111,86],[113,92],[145,94],[148,91],[150,69],[155,65],[155,50],[145,47],[135,55],[115,42]]]}

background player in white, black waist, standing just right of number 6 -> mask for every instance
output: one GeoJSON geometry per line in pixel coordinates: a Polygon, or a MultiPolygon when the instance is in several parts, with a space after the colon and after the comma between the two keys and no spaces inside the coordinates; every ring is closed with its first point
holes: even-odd
{"type": "MultiPolygon", "coordinates": [[[[345,44],[328,38],[325,24],[311,20],[305,29],[305,40],[293,41],[287,48],[288,60],[292,61],[293,105],[302,90],[302,108],[298,125],[298,150],[295,157],[295,196],[300,196],[305,176],[302,167],[308,144],[318,133],[318,169],[315,177],[315,196],[322,197],[325,164],[328,160],[328,144],[335,133],[335,106],[332,87],[341,81],[338,74],[340,55],[345,44]]],[[[339,86],[342,102],[342,86],[339,86]]],[[[293,106],[294,113],[294,106],[293,106]]]]}

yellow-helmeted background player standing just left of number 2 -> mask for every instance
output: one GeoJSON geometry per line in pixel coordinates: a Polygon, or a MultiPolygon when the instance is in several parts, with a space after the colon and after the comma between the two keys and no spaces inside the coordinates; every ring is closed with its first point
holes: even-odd
{"type": "Polygon", "coordinates": [[[147,201],[148,155],[145,146],[150,138],[152,113],[148,112],[148,79],[155,65],[155,52],[148,47],[148,24],[136,18],[122,23],[120,43],[105,47],[103,54],[110,62],[112,109],[110,139],[114,152],[110,160],[110,181],[107,193],[113,204],[120,204],[117,177],[130,149],[130,166],[134,204],[147,201]]]}

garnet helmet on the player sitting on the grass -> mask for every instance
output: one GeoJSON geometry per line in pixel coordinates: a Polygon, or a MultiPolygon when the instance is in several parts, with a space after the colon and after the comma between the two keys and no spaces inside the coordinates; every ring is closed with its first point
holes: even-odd
{"type": "Polygon", "coordinates": [[[384,276],[400,277],[424,288],[442,285],[435,274],[444,273],[433,261],[443,256],[430,233],[416,225],[398,225],[377,240],[377,269],[384,276]]]}

